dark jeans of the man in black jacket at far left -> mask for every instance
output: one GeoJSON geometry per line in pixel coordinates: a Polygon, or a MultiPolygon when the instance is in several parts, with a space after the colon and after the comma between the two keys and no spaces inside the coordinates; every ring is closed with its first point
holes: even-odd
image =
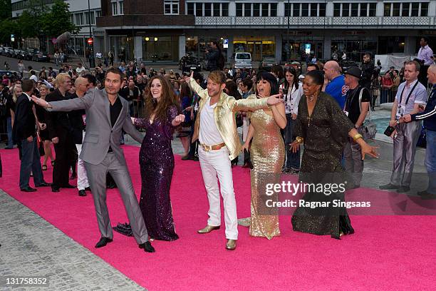
{"type": "Polygon", "coordinates": [[[27,141],[24,138],[21,141],[20,189],[29,186],[28,180],[30,180],[31,171],[33,173],[33,182],[36,186],[44,183],[36,138],[33,138],[33,141],[27,141]]]}

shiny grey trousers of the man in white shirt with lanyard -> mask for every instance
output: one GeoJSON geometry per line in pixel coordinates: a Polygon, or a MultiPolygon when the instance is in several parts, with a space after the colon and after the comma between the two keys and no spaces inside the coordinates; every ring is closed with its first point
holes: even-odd
{"type": "Polygon", "coordinates": [[[393,171],[390,183],[397,186],[410,186],[421,123],[418,121],[401,123],[397,125],[396,130],[397,137],[393,140],[393,171]]]}

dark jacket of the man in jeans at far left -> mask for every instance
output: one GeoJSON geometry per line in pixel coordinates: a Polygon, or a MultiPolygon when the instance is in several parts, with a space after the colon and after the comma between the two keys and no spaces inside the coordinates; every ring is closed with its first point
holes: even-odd
{"type": "Polygon", "coordinates": [[[33,102],[22,93],[16,100],[14,128],[12,128],[12,138],[15,143],[29,136],[36,137],[36,120],[32,108],[33,102]]]}

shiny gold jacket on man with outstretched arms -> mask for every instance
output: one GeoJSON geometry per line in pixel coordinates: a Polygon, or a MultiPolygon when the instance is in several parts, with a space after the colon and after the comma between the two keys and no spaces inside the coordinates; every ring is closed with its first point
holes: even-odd
{"type": "MultiPolygon", "coordinates": [[[[192,141],[197,141],[199,134],[199,121],[200,113],[206,102],[209,102],[210,97],[207,93],[207,89],[203,89],[197,84],[194,78],[190,79],[190,86],[194,92],[199,96],[199,110],[197,113],[197,119],[195,120],[194,135],[192,136],[192,141]]],[[[268,106],[268,98],[260,99],[241,99],[236,100],[232,96],[228,96],[226,93],[222,92],[219,96],[219,101],[217,106],[214,108],[214,120],[217,124],[219,135],[229,149],[229,159],[233,160],[241,152],[241,141],[238,136],[235,112],[237,111],[253,111],[260,108],[268,106]]],[[[213,145],[207,145],[213,146],[213,145]]]]}

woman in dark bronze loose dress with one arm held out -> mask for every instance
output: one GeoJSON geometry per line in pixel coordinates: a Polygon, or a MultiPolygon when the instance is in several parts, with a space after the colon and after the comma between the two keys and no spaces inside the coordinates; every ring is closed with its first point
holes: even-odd
{"type": "MultiPolygon", "coordinates": [[[[353,138],[365,154],[377,157],[375,148],[363,141],[362,136],[354,128],[353,123],[328,94],[321,92],[323,86],[321,71],[306,74],[303,82],[303,93],[299,103],[299,115],[294,132],[296,141],[291,143],[294,152],[300,144],[304,145],[299,181],[309,185],[341,184],[346,185],[345,170],[341,158],[346,139],[353,138]]],[[[335,199],[344,200],[344,191],[332,193],[309,190],[301,200],[306,202],[327,203],[335,199]]],[[[327,204],[328,205],[328,204],[327,204]]],[[[343,234],[354,233],[346,208],[333,207],[299,207],[292,216],[295,231],[313,233],[315,235],[331,235],[337,238],[343,234]]]]}

